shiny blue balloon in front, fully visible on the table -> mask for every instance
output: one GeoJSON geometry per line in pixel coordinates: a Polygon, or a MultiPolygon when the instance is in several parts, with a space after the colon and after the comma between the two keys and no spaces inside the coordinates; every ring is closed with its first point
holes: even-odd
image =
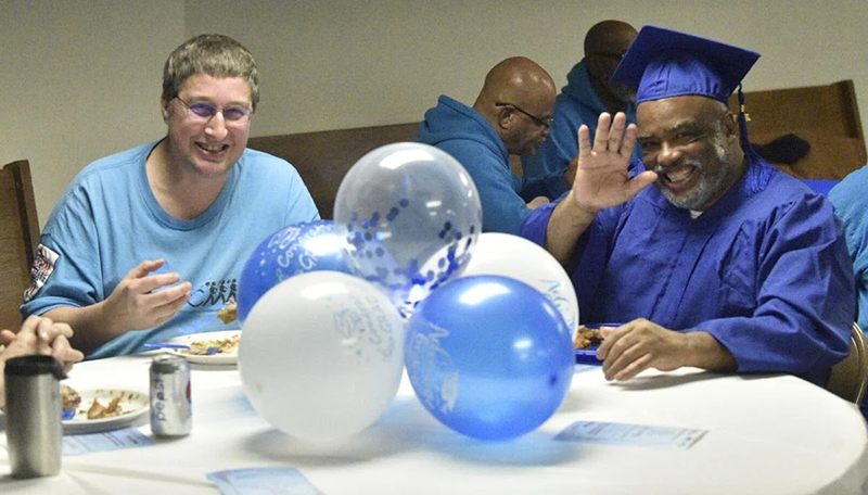
{"type": "Polygon", "coordinates": [[[481,440],[508,440],[545,422],[573,379],[571,329],[536,289],[500,276],[454,280],[409,319],[405,365],[438,421],[481,440]]]}

